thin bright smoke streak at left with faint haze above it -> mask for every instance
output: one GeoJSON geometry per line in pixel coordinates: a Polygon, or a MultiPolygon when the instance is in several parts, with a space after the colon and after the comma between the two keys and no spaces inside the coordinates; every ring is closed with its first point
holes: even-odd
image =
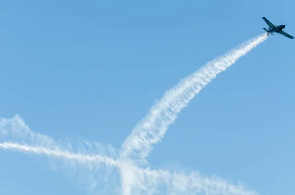
{"type": "MultiPolygon", "coordinates": [[[[89,150],[92,154],[96,153],[97,150],[99,150],[99,152],[106,150],[106,148],[102,148],[98,143],[79,140],[78,144],[75,144],[75,146],[78,147],[78,152],[74,153],[72,152],[73,146],[70,141],[66,140],[58,144],[47,135],[33,132],[19,115],[15,115],[11,119],[0,118],[0,140],[0,148],[2,149],[44,154],[68,160],[73,159],[77,162],[92,161],[110,166],[116,166],[118,164],[118,161],[115,161],[107,155],[89,155],[89,150]]],[[[113,148],[108,149],[113,150],[113,148]]]]}

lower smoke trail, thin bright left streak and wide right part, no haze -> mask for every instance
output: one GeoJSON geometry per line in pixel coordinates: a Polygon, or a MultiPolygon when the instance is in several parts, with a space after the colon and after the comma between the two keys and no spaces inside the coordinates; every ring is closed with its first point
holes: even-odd
{"type": "Polygon", "coordinates": [[[167,194],[258,195],[255,191],[245,189],[242,185],[233,185],[216,176],[202,176],[197,171],[185,174],[170,170],[141,169],[132,164],[128,166],[122,165],[123,163],[119,164],[109,157],[100,155],[74,154],[9,142],[0,143],[0,148],[24,153],[44,154],[69,160],[74,159],[81,164],[93,162],[94,164],[105,163],[110,166],[119,166],[121,176],[128,177],[128,183],[124,183],[125,186],[122,186],[123,195],[153,195],[158,194],[160,189],[164,191],[162,193],[167,194]]]}

